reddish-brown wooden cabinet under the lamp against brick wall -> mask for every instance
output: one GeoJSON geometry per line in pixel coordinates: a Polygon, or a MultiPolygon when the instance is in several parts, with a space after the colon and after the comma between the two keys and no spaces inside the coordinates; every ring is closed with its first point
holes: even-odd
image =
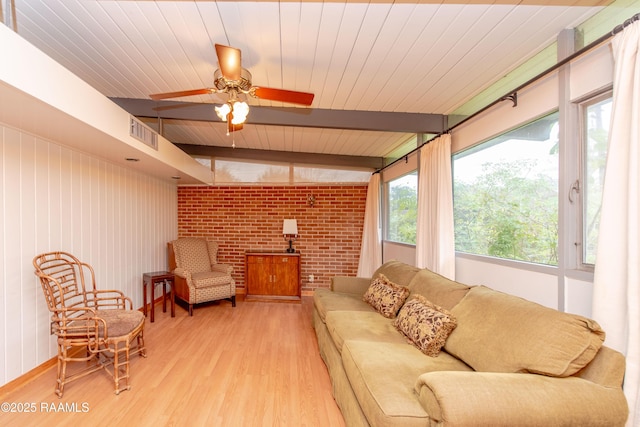
{"type": "Polygon", "coordinates": [[[300,301],[300,254],[247,252],[246,300],[300,301]]]}

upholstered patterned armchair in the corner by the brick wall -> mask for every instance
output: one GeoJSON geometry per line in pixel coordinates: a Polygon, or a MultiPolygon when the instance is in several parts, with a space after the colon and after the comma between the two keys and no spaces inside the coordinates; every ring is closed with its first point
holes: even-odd
{"type": "Polygon", "coordinates": [[[169,268],[175,274],[175,296],[193,306],[203,302],[229,300],[236,306],[233,267],[218,264],[218,244],[197,237],[183,237],[168,243],[169,268]]]}

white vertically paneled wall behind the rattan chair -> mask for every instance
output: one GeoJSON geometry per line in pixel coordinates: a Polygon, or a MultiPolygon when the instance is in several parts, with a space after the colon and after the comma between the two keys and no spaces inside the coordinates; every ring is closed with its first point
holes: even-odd
{"type": "Polygon", "coordinates": [[[139,308],[142,274],[167,268],[177,223],[174,183],[0,123],[0,386],[57,354],[35,255],[74,254],[139,308]]]}

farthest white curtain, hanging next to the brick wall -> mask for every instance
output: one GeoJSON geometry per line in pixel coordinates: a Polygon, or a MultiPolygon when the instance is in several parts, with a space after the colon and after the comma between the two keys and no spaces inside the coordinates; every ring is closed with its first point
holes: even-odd
{"type": "Polygon", "coordinates": [[[371,277],[382,264],[382,241],[380,236],[380,174],[369,179],[367,201],[362,230],[362,246],[358,261],[358,277],[371,277]]]}

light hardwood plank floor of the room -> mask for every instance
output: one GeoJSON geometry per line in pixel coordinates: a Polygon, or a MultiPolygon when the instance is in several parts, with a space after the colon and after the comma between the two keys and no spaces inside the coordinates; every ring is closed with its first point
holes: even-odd
{"type": "Polygon", "coordinates": [[[18,389],[0,389],[1,402],[36,409],[3,411],[0,424],[344,426],[318,353],[312,304],[311,297],[302,304],[240,298],[235,308],[221,302],[194,309],[193,317],[176,306],[175,318],[158,304],[155,322],[147,317],[145,325],[148,357],[132,358],[131,390],[116,396],[99,371],[68,384],[58,399],[54,366],[18,389]]]}

